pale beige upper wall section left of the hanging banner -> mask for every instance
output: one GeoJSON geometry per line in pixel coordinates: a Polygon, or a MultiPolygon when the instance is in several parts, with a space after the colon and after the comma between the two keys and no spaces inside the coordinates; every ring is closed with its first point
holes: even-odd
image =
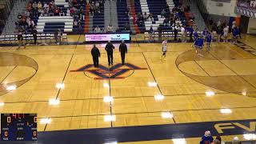
{"type": "Polygon", "coordinates": [[[234,7],[236,0],[203,0],[209,14],[236,17],[234,7]]]}

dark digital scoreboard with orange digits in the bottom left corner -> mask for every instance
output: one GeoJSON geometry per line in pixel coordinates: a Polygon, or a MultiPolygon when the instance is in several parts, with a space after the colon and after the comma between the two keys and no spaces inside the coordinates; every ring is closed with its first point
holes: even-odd
{"type": "Polygon", "coordinates": [[[37,114],[1,114],[1,141],[37,141],[37,114]]]}

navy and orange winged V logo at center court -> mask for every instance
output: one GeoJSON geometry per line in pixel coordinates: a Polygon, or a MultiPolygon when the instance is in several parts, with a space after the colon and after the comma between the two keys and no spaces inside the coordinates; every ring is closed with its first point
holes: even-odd
{"type": "Polygon", "coordinates": [[[70,72],[84,72],[87,77],[92,78],[89,76],[93,75],[94,79],[117,79],[117,78],[126,78],[133,74],[134,70],[146,70],[146,68],[141,68],[139,66],[134,66],[133,64],[126,63],[122,65],[118,63],[111,67],[106,67],[99,65],[97,68],[94,68],[93,64],[88,64],[86,66],[82,66],[77,70],[70,70],[70,72]],[[127,75],[127,73],[130,74],[127,75]]]}

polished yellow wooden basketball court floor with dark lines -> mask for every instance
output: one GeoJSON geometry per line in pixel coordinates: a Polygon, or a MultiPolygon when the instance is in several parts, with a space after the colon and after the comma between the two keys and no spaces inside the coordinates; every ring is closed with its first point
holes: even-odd
{"type": "MultiPolygon", "coordinates": [[[[82,41],[82,37],[69,37],[69,42],[76,41],[82,41]]],[[[256,50],[256,37],[243,35],[240,41],[256,50]]],[[[97,46],[102,53],[99,63],[108,67],[105,45],[97,46]]],[[[118,48],[118,44],[114,46],[118,48]]],[[[50,123],[38,123],[38,131],[256,118],[254,54],[230,43],[214,42],[210,53],[204,49],[204,56],[199,57],[189,42],[168,43],[166,59],[161,60],[160,43],[128,46],[126,62],[143,70],[130,70],[122,75],[124,78],[113,79],[95,79],[87,71],[72,71],[93,63],[92,45],[26,46],[19,50],[16,46],[1,47],[0,102],[4,105],[0,112],[36,113],[39,122],[50,118],[50,123]],[[64,87],[57,88],[58,83],[64,87]],[[114,98],[113,102],[103,101],[108,95],[114,98]],[[164,98],[156,100],[156,95],[164,98]],[[50,105],[50,99],[60,102],[50,105]],[[228,112],[221,113],[223,109],[228,112]],[[162,112],[170,112],[173,118],[162,118],[162,112]],[[109,114],[115,116],[113,122],[104,121],[109,114]]],[[[116,49],[114,65],[118,63],[121,57],[116,49]]],[[[245,140],[242,134],[237,136],[245,140]]],[[[222,137],[225,141],[232,138],[234,135],[222,137]]],[[[187,143],[198,141],[199,137],[186,138],[187,143]]],[[[169,139],[123,143],[172,142],[169,139]]]]}

